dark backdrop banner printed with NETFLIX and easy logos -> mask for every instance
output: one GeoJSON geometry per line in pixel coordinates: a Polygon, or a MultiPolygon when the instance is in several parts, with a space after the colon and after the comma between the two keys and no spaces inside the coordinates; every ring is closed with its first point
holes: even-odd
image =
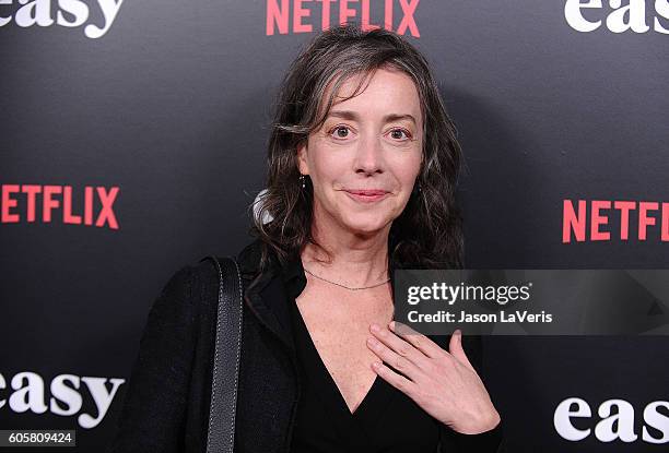
{"type": "MultiPolygon", "coordinates": [[[[668,0],[0,0],[0,429],[104,449],[152,302],[250,241],[281,78],[342,22],[431,61],[468,269],[667,269],[668,0]]],[[[669,449],[667,336],[484,346],[508,451],[669,449]]]]}

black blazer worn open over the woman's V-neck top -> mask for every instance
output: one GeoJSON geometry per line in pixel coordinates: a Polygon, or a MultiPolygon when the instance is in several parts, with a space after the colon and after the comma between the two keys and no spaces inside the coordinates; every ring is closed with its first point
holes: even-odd
{"type": "MultiPolygon", "coordinates": [[[[300,394],[296,355],[279,264],[272,259],[259,273],[260,246],[255,240],[237,255],[244,324],[235,452],[289,453],[300,394]]],[[[108,453],[206,452],[218,291],[211,260],[169,278],[149,312],[108,453]]],[[[449,339],[431,338],[442,347],[449,339]]],[[[480,373],[480,337],[462,344],[480,373]]],[[[444,427],[441,451],[494,452],[501,437],[501,425],[472,436],[444,427]]]]}

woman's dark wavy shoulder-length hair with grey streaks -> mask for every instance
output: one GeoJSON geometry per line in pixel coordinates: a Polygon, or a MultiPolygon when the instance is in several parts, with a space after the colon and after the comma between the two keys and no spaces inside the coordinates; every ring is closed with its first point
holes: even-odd
{"type": "MultiPolygon", "coordinates": [[[[404,211],[392,222],[388,259],[396,267],[462,266],[461,215],[455,201],[461,151],[430,65],[414,46],[394,32],[363,32],[356,24],[345,24],[308,43],[291,63],[278,92],[268,144],[267,190],[249,206],[254,211],[250,234],[263,245],[261,269],[271,252],[284,264],[307,242],[324,249],[312,237],[313,188],[305,176],[302,189],[297,147],[320,129],[342,83],[380,68],[402,71],[413,80],[424,128],[423,163],[415,184],[420,191],[414,186],[404,211]],[[329,98],[324,99],[330,84],[329,98]]],[[[347,99],[360,93],[365,79],[361,78],[347,99]]]]}

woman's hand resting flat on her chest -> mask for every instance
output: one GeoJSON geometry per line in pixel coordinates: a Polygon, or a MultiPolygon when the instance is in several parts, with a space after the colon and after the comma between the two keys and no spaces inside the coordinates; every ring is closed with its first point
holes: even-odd
{"type": "Polygon", "coordinates": [[[401,334],[396,333],[395,321],[388,324],[389,330],[371,325],[374,336],[367,339],[367,347],[383,360],[372,369],[455,431],[476,434],[497,426],[500,414],[465,355],[460,330],[451,335],[447,351],[427,336],[398,324],[401,334]]]}

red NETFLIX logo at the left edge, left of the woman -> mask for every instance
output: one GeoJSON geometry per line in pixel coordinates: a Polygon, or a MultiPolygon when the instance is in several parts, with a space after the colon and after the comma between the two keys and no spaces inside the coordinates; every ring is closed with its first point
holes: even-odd
{"type": "Polygon", "coordinates": [[[114,202],[118,187],[2,184],[0,223],[62,222],[118,229],[114,202]]]}

